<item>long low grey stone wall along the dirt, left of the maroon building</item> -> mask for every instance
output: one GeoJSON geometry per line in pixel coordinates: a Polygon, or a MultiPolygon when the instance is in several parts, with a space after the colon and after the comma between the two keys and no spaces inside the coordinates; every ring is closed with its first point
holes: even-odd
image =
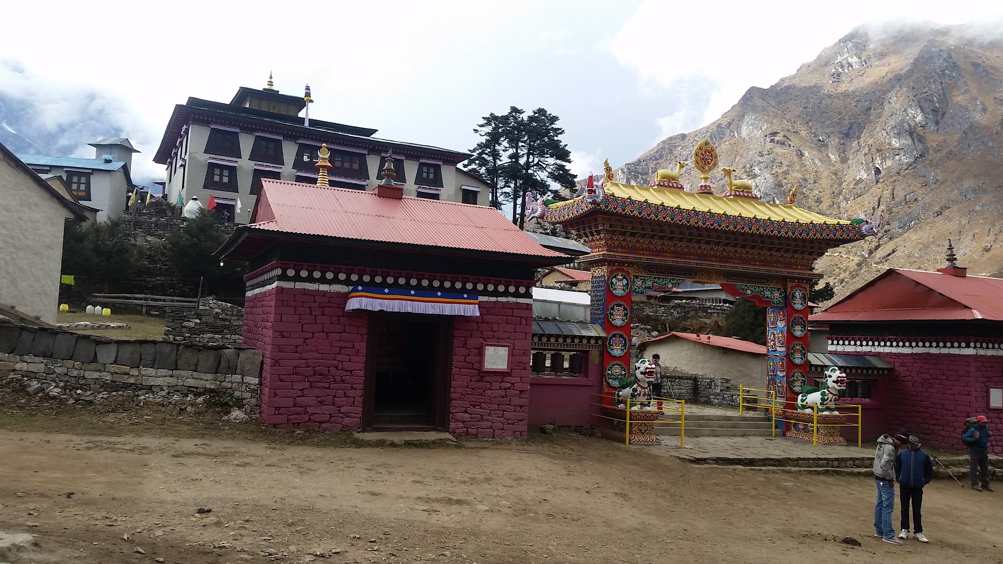
{"type": "Polygon", "coordinates": [[[262,353],[253,348],[124,341],[24,325],[0,326],[0,384],[29,394],[232,394],[259,411],[262,353]]]}

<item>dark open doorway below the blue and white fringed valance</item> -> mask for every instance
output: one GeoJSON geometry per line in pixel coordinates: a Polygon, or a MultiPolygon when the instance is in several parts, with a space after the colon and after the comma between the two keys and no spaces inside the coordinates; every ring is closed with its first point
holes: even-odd
{"type": "Polygon", "coordinates": [[[446,315],[369,313],[363,431],[448,431],[452,323],[446,315]]]}

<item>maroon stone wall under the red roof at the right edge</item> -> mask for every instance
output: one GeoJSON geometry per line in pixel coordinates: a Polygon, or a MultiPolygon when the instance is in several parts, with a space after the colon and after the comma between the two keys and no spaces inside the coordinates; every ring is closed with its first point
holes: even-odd
{"type": "Polygon", "coordinates": [[[1003,411],[988,407],[989,387],[1003,387],[1003,356],[925,352],[881,355],[895,370],[887,379],[878,380],[880,391],[873,400],[884,408],[880,415],[871,416],[865,410],[865,439],[906,430],[925,445],[963,451],[965,418],[985,414],[990,429],[996,430],[996,437],[989,440],[989,452],[1003,455],[1003,411]],[[878,422],[885,429],[876,430],[878,422]]]}

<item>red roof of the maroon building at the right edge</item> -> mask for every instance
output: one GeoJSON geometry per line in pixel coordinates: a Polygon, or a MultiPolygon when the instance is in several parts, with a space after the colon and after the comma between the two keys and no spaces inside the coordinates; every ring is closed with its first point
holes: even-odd
{"type": "Polygon", "coordinates": [[[890,268],[808,319],[1003,321],[1003,278],[890,268]]]}

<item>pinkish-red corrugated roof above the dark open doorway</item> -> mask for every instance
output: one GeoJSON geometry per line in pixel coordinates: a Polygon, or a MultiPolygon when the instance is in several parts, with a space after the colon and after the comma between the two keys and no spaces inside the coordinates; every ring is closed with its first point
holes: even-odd
{"type": "Polygon", "coordinates": [[[286,181],[262,181],[252,221],[259,223],[248,227],[261,231],[565,257],[541,247],[493,208],[286,181]]]}

